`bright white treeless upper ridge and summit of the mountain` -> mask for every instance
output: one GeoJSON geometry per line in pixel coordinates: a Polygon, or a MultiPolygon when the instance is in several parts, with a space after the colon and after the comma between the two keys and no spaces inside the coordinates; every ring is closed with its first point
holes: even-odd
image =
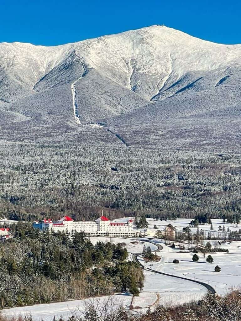
{"type": "Polygon", "coordinates": [[[188,73],[241,64],[241,45],[216,44],[151,26],[56,47],[0,43],[1,70],[32,89],[65,61],[76,61],[75,53],[87,69],[96,69],[148,100],[188,73]]]}

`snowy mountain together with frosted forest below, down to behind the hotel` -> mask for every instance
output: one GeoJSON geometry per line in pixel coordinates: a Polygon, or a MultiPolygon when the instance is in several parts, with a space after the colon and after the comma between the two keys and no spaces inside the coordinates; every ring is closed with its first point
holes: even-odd
{"type": "Polygon", "coordinates": [[[0,43],[3,215],[237,211],[240,58],[241,45],[157,25],[56,47],[0,43]]]}

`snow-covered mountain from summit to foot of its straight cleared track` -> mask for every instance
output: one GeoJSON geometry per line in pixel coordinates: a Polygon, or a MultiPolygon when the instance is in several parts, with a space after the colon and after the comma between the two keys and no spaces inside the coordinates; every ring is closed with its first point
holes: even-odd
{"type": "Polygon", "coordinates": [[[164,26],[56,47],[0,43],[0,124],[152,122],[233,107],[239,113],[240,70],[241,45],[164,26]]]}

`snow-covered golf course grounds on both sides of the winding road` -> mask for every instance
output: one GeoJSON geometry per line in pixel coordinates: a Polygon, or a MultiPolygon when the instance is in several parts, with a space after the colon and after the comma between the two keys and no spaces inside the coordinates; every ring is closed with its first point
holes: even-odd
{"type": "MultiPolygon", "coordinates": [[[[158,230],[163,230],[168,224],[172,224],[176,231],[181,231],[183,227],[188,226],[190,219],[177,219],[175,221],[154,221],[148,219],[149,229],[152,229],[154,225],[158,227],[158,230]]],[[[218,233],[219,225],[229,230],[239,230],[241,224],[237,226],[233,224],[223,223],[221,220],[212,220],[213,230],[210,230],[209,224],[200,225],[199,229],[203,229],[206,232],[218,233]]],[[[194,233],[197,228],[191,228],[194,233]]],[[[191,280],[198,280],[206,284],[210,284],[215,291],[223,295],[235,287],[239,287],[241,284],[241,241],[227,241],[222,242],[215,240],[204,240],[203,245],[210,242],[212,247],[222,247],[228,249],[226,252],[211,253],[214,259],[212,264],[206,262],[206,257],[203,254],[198,253],[199,261],[193,262],[192,256],[194,253],[187,250],[187,244],[185,249],[180,250],[178,242],[175,242],[176,247],[172,248],[166,245],[162,239],[120,239],[120,238],[108,238],[108,237],[90,237],[93,244],[98,241],[122,243],[122,246],[126,247],[129,253],[129,260],[133,259],[134,255],[138,255],[138,260],[142,265],[146,265],[155,271],[164,272],[171,275],[185,277],[191,280]],[[151,241],[151,242],[150,242],[151,241]],[[155,244],[160,244],[162,250],[157,252],[160,256],[159,262],[146,263],[141,253],[144,245],[151,247],[152,251],[157,251],[158,247],[155,244]],[[173,260],[178,259],[179,264],[173,264],[173,260]],[[152,265],[151,265],[152,264],[152,265]],[[221,272],[214,272],[214,267],[219,265],[221,272]]],[[[172,242],[171,242],[172,244],[172,242]]],[[[207,254],[206,254],[207,256],[207,254]]],[[[172,276],[166,276],[157,274],[150,270],[143,270],[145,275],[144,287],[139,297],[132,297],[129,294],[116,294],[115,299],[122,303],[126,308],[132,306],[133,310],[138,313],[146,310],[147,308],[154,309],[157,305],[176,305],[192,300],[201,299],[207,289],[192,281],[175,278],[172,276]]],[[[101,300],[105,300],[103,297],[101,300]]],[[[78,308],[80,311],[84,310],[84,300],[72,300],[60,303],[41,304],[29,307],[11,308],[3,310],[7,316],[13,314],[28,314],[31,313],[34,320],[51,320],[55,315],[59,317],[67,317],[71,314],[71,311],[78,308]]]]}

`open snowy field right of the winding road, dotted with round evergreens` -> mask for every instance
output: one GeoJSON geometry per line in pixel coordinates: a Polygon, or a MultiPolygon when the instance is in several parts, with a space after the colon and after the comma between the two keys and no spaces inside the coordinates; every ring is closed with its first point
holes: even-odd
{"type": "MultiPolygon", "coordinates": [[[[198,254],[198,262],[193,262],[193,253],[181,253],[178,248],[173,249],[165,244],[162,244],[162,246],[162,259],[158,263],[153,263],[153,266],[151,266],[153,270],[205,282],[210,284],[219,294],[226,294],[232,288],[241,285],[241,242],[226,242],[223,244],[222,247],[228,248],[229,253],[211,253],[214,259],[212,264],[207,263],[202,254],[198,254]],[[180,263],[173,264],[174,259],[178,259],[180,263]],[[216,265],[219,265],[221,272],[214,272],[216,265]]],[[[164,288],[165,291],[169,291],[165,285],[164,288]]]]}

